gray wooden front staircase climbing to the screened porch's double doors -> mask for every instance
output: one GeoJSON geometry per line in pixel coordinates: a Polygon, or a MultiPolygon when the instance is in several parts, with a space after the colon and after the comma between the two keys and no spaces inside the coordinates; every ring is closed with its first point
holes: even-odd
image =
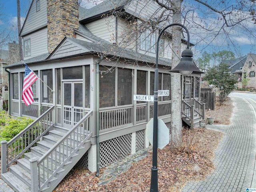
{"type": "MultiPolygon", "coordinates": [[[[32,146],[30,145],[29,150],[25,150],[26,152],[19,155],[16,153],[22,148],[18,147],[16,150],[17,140],[3,142],[2,150],[5,150],[6,147],[7,158],[5,160],[1,157],[2,163],[4,161],[7,164],[6,168],[10,167],[6,172],[6,168],[1,165],[4,169],[1,170],[4,182],[17,192],[52,192],[90,148],[91,143],[88,138],[91,133],[86,130],[91,124],[91,115],[92,113],[86,115],[71,129],[52,126],[51,123],[44,122],[50,128],[47,128],[47,131],[43,130],[41,136],[38,136],[39,134],[32,135],[35,138],[37,136],[36,142],[31,142],[32,146]],[[15,150],[13,145],[16,146],[15,150]],[[16,157],[13,158],[13,156],[16,157]],[[10,166],[13,162],[17,162],[17,164],[10,166]]],[[[43,119],[45,120],[45,116],[43,119]]],[[[44,124],[40,122],[41,128],[44,124]]],[[[32,124],[32,128],[33,133],[36,133],[35,124],[32,124]]],[[[27,140],[27,132],[20,134],[19,137],[24,138],[24,135],[27,140]]],[[[32,138],[28,140],[32,141],[32,138]]],[[[23,141],[23,139],[18,139],[18,141],[23,141]]],[[[24,149],[26,148],[28,147],[24,146],[24,149]]]]}

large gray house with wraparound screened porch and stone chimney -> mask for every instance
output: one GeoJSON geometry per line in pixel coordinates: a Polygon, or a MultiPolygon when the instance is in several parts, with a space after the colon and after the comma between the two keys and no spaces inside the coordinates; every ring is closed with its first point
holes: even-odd
{"type": "MultiPolygon", "coordinates": [[[[124,34],[140,23],[138,18],[146,18],[147,12],[159,14],[160,8],[153,1],[105,0],[88,10],[78,7],[78,0],[68,2],[33,0],[20,32],[24,61],[50,88],[37,80],[32,86],[34,103],[26,106],[24,63],[7,67],[10,113],[36,119],[7,145],[2,143],[2,153],[11,155],[2,156],[1,178],[18,191],[51,191],[76,162],[94,172],[149,145],[145,129],[153,117],[153,102],[136,102],[133,95],[153,95],[155,43],[161,28],[139,31],[140,38],[126,42],[135,35],[124,34]],[[18,164],[6,172],[14,161],[18,164]]],[[[167,31],[158,60],[158,89],[170,92],[171,41],[167,31]]],[[[181,87],[181,113],[193,126],[190,116],[204,114],[198,101],[200,74],[181,76],[181,87]]],[[[170,106],[170,96],[159,97],[158,117],[169,128],[170,106]]]]}

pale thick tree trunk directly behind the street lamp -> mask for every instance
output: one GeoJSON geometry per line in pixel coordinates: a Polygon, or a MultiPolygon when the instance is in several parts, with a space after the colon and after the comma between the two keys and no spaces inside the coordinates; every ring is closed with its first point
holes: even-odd
{"type": "MultiPolygon", "coordinates": [[[[181,4],[182,0],[173,0],[172,8],[173,23],[181,24],[181,4]]],[[[172,29],[172,68],[180,62],[181,55],[181,28],[174,26],[172,29]]],[[[181,87],[180,87],[180,74],[171,74],[171,142],[173,147],[178,147],[182,144],[182,120],[181,120],[181,87]]]]}

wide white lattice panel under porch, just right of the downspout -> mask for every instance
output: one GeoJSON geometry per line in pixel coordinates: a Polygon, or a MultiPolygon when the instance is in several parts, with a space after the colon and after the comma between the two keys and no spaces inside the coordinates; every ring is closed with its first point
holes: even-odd
{"type": "Polygon", "coordinates": [[[100,168],[128,156],[132,152],[132,134],[123,135],[100,143],[100,168]]]}

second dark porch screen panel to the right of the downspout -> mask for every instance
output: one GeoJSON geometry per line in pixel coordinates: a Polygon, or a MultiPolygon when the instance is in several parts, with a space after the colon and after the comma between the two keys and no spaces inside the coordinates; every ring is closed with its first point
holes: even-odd
{"type": "Polygon", "coordinates": [[[132,70],[118,68],[118,105],[132,104],[132,70]]]}

